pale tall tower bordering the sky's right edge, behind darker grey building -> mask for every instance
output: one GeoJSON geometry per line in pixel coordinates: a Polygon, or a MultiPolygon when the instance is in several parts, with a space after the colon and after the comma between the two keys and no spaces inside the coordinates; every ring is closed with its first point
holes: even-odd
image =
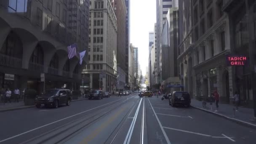
{"type": "Polygon", "coordinates": [[[166,19],[166,14],[168,13],[169,8],[178,7],[178,0],[157,0],[157,45],[156,49],[156,82],[161,83],[162,80],[162,50],[161,50],[161,34],[163,29],[163,21],[166,19]]]}

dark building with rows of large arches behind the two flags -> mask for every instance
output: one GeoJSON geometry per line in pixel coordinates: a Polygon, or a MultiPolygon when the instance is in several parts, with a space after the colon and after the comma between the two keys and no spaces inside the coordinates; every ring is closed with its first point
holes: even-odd
{"type": "Polygon", "coordinates": [[[86,61],[68,59],[67,46],[87,50],[88,9],[89,0],[0,0],[0,87],[40,93],[45,73],[45,89],[78,90],[86,61]]]}

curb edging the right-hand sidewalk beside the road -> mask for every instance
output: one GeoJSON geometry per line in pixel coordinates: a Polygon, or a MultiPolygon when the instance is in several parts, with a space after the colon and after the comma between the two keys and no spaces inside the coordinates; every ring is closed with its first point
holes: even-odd
{"type": "Polygon", "coordinates": [[[240,125],[244,125],[244,126],[247,126],[247,127],[249,127],[249,128],[254,128],[254,129],[256,129],[256,125],[254,125],[254,124],[252,124],[252,123],[248,123],[248,122],[245,122],[245,121],[243,121],[243,120],[238,120],[238,119],[235,119],[235,118],[232,118],[232,117],[228,117],[228,116],[226,116],[226,115],[221,115],[221,114],[219,114],[219,113],[212,112],[212,111],[209,111],[209,110],[207,110],[207,109],[202,109],[202,108],[199,108],[199,107],[194,107],[194,106],[192,106],[192,105],[190,105],[190,106],[193,107],[193,108],[195,108],[195,109],[200,109],[200,110],[202,110],[202,111],[204,111],[204,112],[208,112],[208,113],[211,113],[211,114],[213,114],[213,115],[217,115],[217,116],[219,116],[219,117],[223,117],[223,118],[225,118],[225,119],[227,119],[227,120],[231,120],[231,121],[233,121],[233,122],[235,122],[235,123],[238,123],[238,124],[240,124],[240,125]]]}

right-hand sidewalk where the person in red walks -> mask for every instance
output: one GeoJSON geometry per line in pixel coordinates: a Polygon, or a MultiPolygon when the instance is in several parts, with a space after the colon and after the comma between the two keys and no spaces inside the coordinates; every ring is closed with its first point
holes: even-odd
{"type": "Polygon", "coordinates": [[[203,108],[202,101],[198,101],[196,99],[191,99],[191,107],[203,110],[205,112],[209,112],[220,117],[227,118],[228,120],[235,121],[237,123],[253,126],[256,128],[256,120],[253,118],[253,109],[239,107],[237,112],[234,111],[234,106],[231,104],[219,104],[219,111],[215,112],[216,105],[213,103],[213,111],[210,108],[210,103],[206,104],[206,108],[203,108]]]}

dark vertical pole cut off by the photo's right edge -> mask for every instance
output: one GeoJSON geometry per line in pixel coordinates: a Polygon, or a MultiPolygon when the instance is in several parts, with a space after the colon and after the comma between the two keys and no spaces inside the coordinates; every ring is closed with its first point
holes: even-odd
{"type": "Polygon", "coordinates": [[[245,0],[245,9],[246,9],[246,20],[247,20],[247,30],[248,30],[248,47],[249,47],[249,61],[250,61],[250,70],[251,70],[251,88],[253,91],[253,109],[254,109],[254,118],[256,118],[256,87],[255,87],[255,58],[254,58],[254,48],[255,48],[255,35],[254,35],[254,25],[253,25],[253,14],[252,10],[249,9],[248,0],[245,0]]]}

